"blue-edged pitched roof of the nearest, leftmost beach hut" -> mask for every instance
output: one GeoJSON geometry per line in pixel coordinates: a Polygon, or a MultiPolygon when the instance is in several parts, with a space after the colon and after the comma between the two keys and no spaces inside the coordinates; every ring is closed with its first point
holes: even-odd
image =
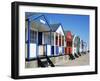
{"type": "Polygon", "coordinates": [[[38,29],[38,31],[51,30],[44,15],[34,13],[30,16],[30,14],[27,14],[27,18],[31,20],[32,29],[38,29]]]}

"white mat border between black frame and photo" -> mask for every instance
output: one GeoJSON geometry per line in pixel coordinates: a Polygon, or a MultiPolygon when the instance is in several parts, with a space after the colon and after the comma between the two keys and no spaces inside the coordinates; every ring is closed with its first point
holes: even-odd
{"type": "MultiPolygon", "coordinates": [[[[39,6],[20,6],[19,7],[19,73],[20,75],[38,75],[38,74],[54,74],[54,73],[72,73],[72,72],[84,72],[95,71],[95,50],[90,48],[90,65],[86,66],[73,66],[73,67],[55,67],[55,68],[31,68],[25,69],[25,56],[24,56],[24,44],[25,44],[25,12],[42,12],[42,13],[58,13],[58,14],[81,14],[90,16],[90,40],[95,39],[95,12],[94,10],[81,10],[81,9],[69,9],[69,8],[47,8],[39,6]],[[22,32],[23,31],[23,32],[22,32]],[[22,60],[23,59],[23,60],[22,60]],[[78,71],[77,71],[78,69],[78,71]],[[34,74],[33,74],[34,73],[34,74]]],[[[90,41],[90,47],[95,47],[95,40],[90,41]],[[93,43],[94,42],[94,43],[93,43]]]]}

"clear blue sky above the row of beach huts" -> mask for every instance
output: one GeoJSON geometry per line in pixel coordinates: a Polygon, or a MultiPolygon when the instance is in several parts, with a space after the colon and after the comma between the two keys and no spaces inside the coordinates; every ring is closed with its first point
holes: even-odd
{"type": "Polygon", "coordinates": [[[64,31],[71,31],[72,34],[78,35],[87,45],[89,44],[89,15],[39,14],[44,15],[49,24],[61,23],[64,31]]]}

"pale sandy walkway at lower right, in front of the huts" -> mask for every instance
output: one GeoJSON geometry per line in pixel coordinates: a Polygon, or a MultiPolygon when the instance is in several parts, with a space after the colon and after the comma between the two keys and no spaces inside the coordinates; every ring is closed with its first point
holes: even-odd
{"type": "MultiPolygon", "coordinates": [[[[59,58],[60,59],[60,58],[59,58]]],[[[81,55],[74,60],[69,60],[68,58],[62,58],[56,61],[56,66],[83,66],[89,65],[89,54],[81,55]]]]}

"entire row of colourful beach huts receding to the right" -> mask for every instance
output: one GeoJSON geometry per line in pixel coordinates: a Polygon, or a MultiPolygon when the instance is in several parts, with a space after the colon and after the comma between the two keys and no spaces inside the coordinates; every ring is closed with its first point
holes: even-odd
{"type": "Polygon", "coordinates": [[[43,14],[27,14],[25,18],[26,60],[68,55],[75,59],[88,51],[78,35],[63,29],[61,23],[49,24],[43,14]]]}

